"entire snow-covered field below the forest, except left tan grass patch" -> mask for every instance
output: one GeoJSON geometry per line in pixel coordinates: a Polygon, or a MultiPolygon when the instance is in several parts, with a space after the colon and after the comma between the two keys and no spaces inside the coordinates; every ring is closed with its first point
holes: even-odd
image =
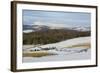
{"type": "MultiPolygon", "coordinates": [[[[44,62],[44,61],[64,61],[64,60],[84,60],[91,58],[91,38],[90,37],[79,37],[74,39],[65,40],[58,43],[41,45],[29,49],[23,48],[23,53],[30,53],[35,51],[45,51],[48,54],[53,53],[54,55],[47,55],[41,57],[27,56],[23,57],[23,62],[44,62]],[[52,48],[44,50],[47,48],[52,48]]],[[[37,52],[38,52],[37,51],[37,52]]]]}

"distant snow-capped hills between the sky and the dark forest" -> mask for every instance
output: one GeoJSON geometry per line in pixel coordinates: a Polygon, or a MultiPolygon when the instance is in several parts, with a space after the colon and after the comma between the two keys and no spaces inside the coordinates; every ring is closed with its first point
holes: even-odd
{"type": "MultiPolygon", "coordinates": [[[[52,29],[65,29],[65,30],[77,30],[77,31],[90,31],[90,27],[61,27],[61,26],[50,26],[50,25],[23,25],[23,32],[27,33],[27,30],[35,31],[46,31],[52,29]]],[[[32,32],[32,31],[30,31],[32,32]]]]}

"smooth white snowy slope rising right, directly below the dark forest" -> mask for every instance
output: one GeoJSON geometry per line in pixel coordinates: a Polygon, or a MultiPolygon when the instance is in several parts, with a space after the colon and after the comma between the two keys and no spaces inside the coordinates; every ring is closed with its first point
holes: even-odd
{"type": "Polygon", "coordinates": [[[61,42],[58,42],[58,43],[43,45],[41,47],[43,47],[43,48],[45,48],[45,47],[57,47],[57,48],[61,47],[62,48],[62,47],[68,47],[68,46],[71,46],[71,45],[90,43],[90,41],[91,41],[91,37],[79,37],[79,38],[61,41],[61,42]]]}

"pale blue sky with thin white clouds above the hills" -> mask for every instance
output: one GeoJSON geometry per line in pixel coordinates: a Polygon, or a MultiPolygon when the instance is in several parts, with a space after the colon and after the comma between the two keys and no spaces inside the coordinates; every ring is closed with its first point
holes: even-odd
{"type": "Polygon", "coordinates": [[[90,26],[91,14],[84,12],[61,12],[23,10],[23,25],[51,25],[51,26],[90,26]]]}

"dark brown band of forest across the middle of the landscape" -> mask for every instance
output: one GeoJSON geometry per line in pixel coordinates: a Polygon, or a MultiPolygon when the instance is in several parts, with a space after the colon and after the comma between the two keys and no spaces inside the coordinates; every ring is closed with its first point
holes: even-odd
{"type": "Polygon", "coordinates": [[[90,31],[75,31],[64,29],[36,31],[31,33],[23,33],[23,44],[49,44],[83,36],[90,36],[90,31]]]}

